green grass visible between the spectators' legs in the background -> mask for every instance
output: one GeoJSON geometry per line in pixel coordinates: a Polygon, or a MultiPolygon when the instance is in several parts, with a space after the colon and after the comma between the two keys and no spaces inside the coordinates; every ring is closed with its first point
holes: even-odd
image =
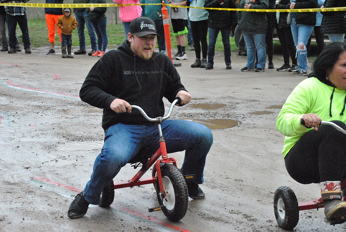
{"type": "MultiPolygon", "coordinates": [[[[47,24],[45,19],[40,19],[40,18],[29,18],[28,19],[28,28],[29,28],[29,36],[30,36],[30,42],[31,42],[31,47],[40,47],[40,46],[49,46],[49,41],[48,41],[48,29],[47,29],[47,24]]],[[[19,26],[17,26],[17,33],[18,36],[20,37],[20,42],[21,42],[21,31],[19,26]]],[[[85,28],[84,31],[85,37],[86,37],[86,44],[88,45],[88,31],[85,28]]],[[[122,24],[115,24],[115,23],[109,23],[107,24],[107,36],[108,36],[108,46],[109,49],[114,49],[117,48],[119,44],[124,41],[124,29],[122,27],[122,24]]],[[[55,46],[58,45],[60,42],[58,40],[58,36],[56,35],[56,40],[55,40],[55,46]]],[[[187,41],[186,41],[187,44],[187,41]]],[[[231,44],[231,50],[237,51],[237,46],[234,42],[234,38],[230,38],[230,44],[231,44]]],[[[72,45],[73,46],[78,46],[79,45],[79,38],[78,38],[78,33],[77,29],[73,31],[72,34],[72,45]]],[[[171,28],[171,45],[172,49],[176,49],[176,43],[175,43],[175,38],[173,36],[173,30],[171,28]]],[[[156,45],[157,47],[157,45],[156,45]]],[[[221,40],[221,33],[219,34],[216,45],[215,45],[215,50],[216,51],[224,51],[224,46],[222,45],[222,40],[221,40]]]]}

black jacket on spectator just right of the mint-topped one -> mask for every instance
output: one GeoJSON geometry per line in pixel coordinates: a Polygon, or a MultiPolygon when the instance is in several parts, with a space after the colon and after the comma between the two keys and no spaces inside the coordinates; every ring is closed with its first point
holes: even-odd
{"type": "MultiPolygon", "coordinates": [[[[206,0],[204,7],[212,8],[237,8],[234,0],[224,0],[220,5],[216,0],[206,0]]],[[[237,25],[236,11],[229,10],[208,10],[208,27],[211,28],[231,28],[237,25]]]]}

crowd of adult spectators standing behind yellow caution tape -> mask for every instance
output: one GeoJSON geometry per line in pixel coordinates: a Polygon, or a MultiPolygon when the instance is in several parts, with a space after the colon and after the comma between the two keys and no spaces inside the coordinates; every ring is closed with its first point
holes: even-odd
{"type": "MultiPolygon", "coordinates": [[[[1,3],[26,3],[28,0],[1,0],[1,3]]],[[[161,3],[161,0],[113,0],[117,4],[161,3]]],[[[63,3],[63,0],[46,0],[46,3],[63,3]]],[[[105,0],[73,0],[73,3],[106,3],[105,0]]],[[[195,51],[192,68],[213,69],[215,44],[221,32],[224,46],[226,69],[231,69],[231,48],[229,37],[234,36],[238,55],[247,56],[247,63],[242,71],[262,72],[266,68],[274,69],[273,33],[276,29],[281,43],[284,64],[277,71],[290,71],[302,76],[308,75],[310,68],[308,57],[312,32],[316,38],[318,51],[324,48],[328,36],[330,42],[344,41],[346,32],[346,11],[324,12],[254,12],[254,11],[220,11],[206,8],[239,9],[313,9],[346,7],[346,1],[339,0],[172,0],[167,4],[190,6],[192,8],[168,7],[178,52],[173,59],[187,60],[185,46],[195,51]],[[199,8],[193,8],[199,7],[199,8]],[[207,35],[209,31],[209,43],[207,35]],[[291,59],[291,61],[290,61],[291,59]]],[[[73,13],[78,23],[79,50],[74,54],[86,54],[84,28],[88,29],[91,51],[89,55],[101,57],[107,48],[106,7],[74,8],[73,13]]],[[[16,33],[17,24],[22,32],[25,53],[31,53],[28,19],[25,7],[0,6],[0,43],[1,52],[20,52],[16,33]],[[7,24],[7,27],[6,27],[7,24]],[[6,29],[8,29],[8,39],[6,29]]],[[[50,50],[55,54],[55,28],[57,19],[63,16],[61,8],[45,8],[50,50]]],[[[159,51],[166,54],[163,19],[160,5],[120,6],[119,17],[124,27],[125,39],[129,24],[137,17],[146,16],[154,20],[159,51]]],[[[57,34],[62,42],[61,30],[57,34]]]]}

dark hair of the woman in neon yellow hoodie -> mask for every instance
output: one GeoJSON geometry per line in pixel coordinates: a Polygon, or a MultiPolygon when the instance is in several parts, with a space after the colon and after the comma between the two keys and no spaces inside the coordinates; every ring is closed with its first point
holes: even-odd
{"type": "Polygon", "coordinates": [[[315,77],[325,79],[344,52],[346,52],[345,42],[337,41],[325,46],[311,67],[315,77]]]}

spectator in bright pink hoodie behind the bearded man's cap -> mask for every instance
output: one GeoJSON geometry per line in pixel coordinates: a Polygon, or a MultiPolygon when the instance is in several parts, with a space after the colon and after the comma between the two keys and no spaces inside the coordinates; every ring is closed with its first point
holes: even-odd
{"type": "MultiPolygon", "coordinates": [[[[139,0],[113,0],[117,4],[139,4],[139,0]]],[[[123,6],[119,7],[119,18],[124,27],[125,39],[127,39],[127,34],[130,32],[130,23],[135,18],[142,15],[142,7],[137,6],[123,6]]]]}

